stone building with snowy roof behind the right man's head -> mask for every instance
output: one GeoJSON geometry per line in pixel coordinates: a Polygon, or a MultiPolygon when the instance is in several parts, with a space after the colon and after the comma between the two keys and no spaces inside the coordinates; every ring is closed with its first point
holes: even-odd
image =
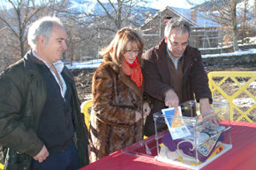
{"type": "Polygon", "coordinates": [[[191,24],[192,33],[189,43],[192,47],[216,48],[221,43],[220,26],[203,18],[203,14],[199,11],[167,6],[154,16],[150,13],[147,13],[146,16],[145,23],[140,26],[146,50],[154,47],[162,40],[165,23],[173,17],[182,17],[191,24]]]}

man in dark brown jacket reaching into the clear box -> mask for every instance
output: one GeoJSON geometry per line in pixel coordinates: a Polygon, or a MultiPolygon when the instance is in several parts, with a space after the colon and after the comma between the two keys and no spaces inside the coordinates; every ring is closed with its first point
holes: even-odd
{"type": "Polygon", "coordinates": [[[190,30],[184,19],[169,19],[164,39],[144,56],[145,92],[154,105],[145,125],[147,137],[154,135],[153,114],[162,108],[177,109],[180,103],[195,97],[200,102],[200,113],[211,109],[212,95],[200,51],[188,45],[190,30]]]}

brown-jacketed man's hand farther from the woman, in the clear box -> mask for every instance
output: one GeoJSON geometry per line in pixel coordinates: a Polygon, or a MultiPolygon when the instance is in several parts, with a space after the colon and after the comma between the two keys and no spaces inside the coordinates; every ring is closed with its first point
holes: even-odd
{"type": "MultiPolygon", "coordinates": [[[[209,110],[211,110],[212,107],[209,103],[209,100],[207,98],[204,98],[204,99],[200,99],[200,113],[201,114],[204,114],[204,113],[207,113],[209,110]]],[[[210,116],[211,114],[214,114],[212,112],[209,112],[207,115],[205,116],[210,116]]],[[[221,122],[220,118],[216,115],[216,116],[213,116],[210,118],[209,120],[209,125],[211,127],[211,129],[215,129],[214,128],[214,124],[219,127],[219,122],[221,122]]],[[[203,129],[205,129],[205,123],[203,125],[203,129]]]]}

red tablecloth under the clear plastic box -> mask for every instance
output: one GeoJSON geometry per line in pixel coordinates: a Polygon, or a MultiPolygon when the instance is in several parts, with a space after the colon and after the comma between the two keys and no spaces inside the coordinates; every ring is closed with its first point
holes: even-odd
{"type": "MultiPolygon", "coordinates": [[[[233,148],[215,159],[202,170],[255,170],[256,169],[256,123],[231,122],[233,148]]],[[[123,154],[120,151],[100,159],[80,170],[169,170],[188,169],[146,157],[123,154]]]]}

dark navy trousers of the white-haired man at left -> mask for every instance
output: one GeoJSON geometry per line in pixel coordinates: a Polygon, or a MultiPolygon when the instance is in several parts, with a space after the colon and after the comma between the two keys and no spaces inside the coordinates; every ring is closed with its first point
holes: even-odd
{"type": "Polygon", "coordinates": [[[75,144],[63,153],[49,154],[43,162],[32,160],[30,170],[77,170],[79,169],[79,154],[75,144]]]}

